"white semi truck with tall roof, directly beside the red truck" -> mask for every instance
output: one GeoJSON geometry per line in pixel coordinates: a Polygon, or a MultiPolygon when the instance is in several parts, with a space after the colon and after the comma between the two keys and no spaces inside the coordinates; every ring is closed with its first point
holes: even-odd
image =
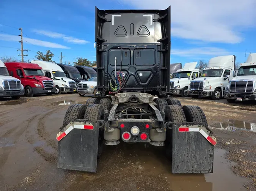
{"type": "Polygon", "coordinates": [[[56,86],[55,94],[61,94],[62,92],[73,93],[77,91],[75,81],[67,78],[63,69],[57,64],[41,60],[32,60],[30,63],[38,64],[44,71],[44,75],[53,80],[56,86]]]}

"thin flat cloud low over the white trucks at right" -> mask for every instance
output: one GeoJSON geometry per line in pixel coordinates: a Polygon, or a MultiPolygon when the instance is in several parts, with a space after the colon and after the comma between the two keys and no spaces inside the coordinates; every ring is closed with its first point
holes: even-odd
{"type": "Polygon", "coordinates": [[[181,57],[192,57],[195,55],[211,55],[221,56],[230,55],[231,53],[223,48],[215,47],[203,47],[203,48],[191,48],[191,49],[171,49],[171,55],[178,55],[181,57]]]}

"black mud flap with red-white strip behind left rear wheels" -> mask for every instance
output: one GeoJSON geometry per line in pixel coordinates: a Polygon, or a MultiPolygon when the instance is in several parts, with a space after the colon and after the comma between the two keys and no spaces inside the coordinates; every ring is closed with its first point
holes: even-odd
{"type": "Polygon", "coordinates": [[[57,134],[57,167],[96,173],[98,139],[99,123],[69,123],[57,134]]]}

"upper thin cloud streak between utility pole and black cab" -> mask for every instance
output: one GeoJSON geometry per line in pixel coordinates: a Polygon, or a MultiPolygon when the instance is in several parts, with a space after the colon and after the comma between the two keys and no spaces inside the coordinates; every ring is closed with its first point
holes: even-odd
{"type": "Polygon", "coordinates": [[[47,37],[51,37],[51,38],[54,38],[54,39],[63,39],[66,42],[74,43],[74,44],[82,44],[83,45],[83,44],[89,43],[86,40],[77,39],[77,38],[74,38],[74,37],[69,37],[67,35],[64,35],[64,34],[61,34],[61,33],[58,33],[58,32],[36,30],[36,29],[33,30],[33,32],[36,32],[36,34],[45,35],[47,37]]]}

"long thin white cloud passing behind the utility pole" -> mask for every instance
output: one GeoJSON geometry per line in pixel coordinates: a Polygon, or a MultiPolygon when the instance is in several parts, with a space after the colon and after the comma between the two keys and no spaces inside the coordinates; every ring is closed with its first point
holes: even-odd
{"type": "MultiPolygon", "coordinates": [[[[16,35],[0,34],[0,40],[19,42],[20,37],[16,35]]],[[[32,45],[44,46],[49,48],[70,49],[68,46],[63,46],[57,43],[52,43],[52,42],[47,42],[42,40],[30,39],[27,37],[23,37],[23,43],[30,43],[32,45]]]]}

